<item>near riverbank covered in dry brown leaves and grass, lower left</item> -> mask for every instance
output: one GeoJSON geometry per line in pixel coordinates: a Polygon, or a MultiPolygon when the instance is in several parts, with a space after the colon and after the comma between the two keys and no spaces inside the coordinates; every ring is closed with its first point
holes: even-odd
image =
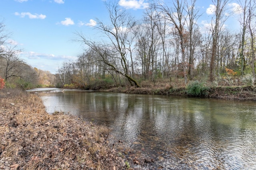
{"type": "Polygon", "coordinates": [[[119,170],[134,161],[121,141],[108,141],[104,126],[49,115],[34,94],[1,90],[0,95],[0,169],[119,170]]]}

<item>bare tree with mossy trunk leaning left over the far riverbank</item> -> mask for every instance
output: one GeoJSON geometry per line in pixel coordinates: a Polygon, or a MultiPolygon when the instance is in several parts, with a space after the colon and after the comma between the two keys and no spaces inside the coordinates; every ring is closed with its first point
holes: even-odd
{"type": "Polygon", "coordinates": [[[130,76],[128,59],[127,59],[127,49],[129,47],[130,41],[129,36],[132,36],[130,31],[135,25],[135,21],[133,18],[124,10],[120,8],[117,1],[114,2],[104,2],[106,9],[108,10],[110,24],[106,24],[103,21],[97,19],[97,25],[94,26],[95,29],[101,31],[110,43],[104,42],[95,42],[92,40],[86,39],[82,33],[77,33],[78,37],[80,37],[80,42],[87,45],[92,50],[94,50],[98,55],[100,55],[100,61],[107,64],[110,69],[122,74],[127,78],[130,82],[131,86],[139,87],[138,83],[134,78],[130,76]],[[114,66],[114,63],[111,63],[108,57],[117,57],[122,66],[122,70],[117,69],[114,66]]]}

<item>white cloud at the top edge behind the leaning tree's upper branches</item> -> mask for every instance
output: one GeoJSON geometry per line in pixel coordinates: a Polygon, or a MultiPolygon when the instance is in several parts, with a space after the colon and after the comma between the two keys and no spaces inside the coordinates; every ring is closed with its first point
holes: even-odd
{"type": "Polygon", "coordinates": [[[148,8],[148,3],[144,2],[144,0],[120,0],[118,2],[120,6],[124,8],[132,8],[132,9],[144,9],[148,8]]]}

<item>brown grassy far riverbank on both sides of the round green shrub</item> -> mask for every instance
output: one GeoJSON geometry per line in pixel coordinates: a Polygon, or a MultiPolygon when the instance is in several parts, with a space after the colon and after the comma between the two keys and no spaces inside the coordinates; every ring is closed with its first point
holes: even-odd
{"type": "MultiPolygon", "coordinates": [[[[153,94],[170,96],[190,96],[186,88],[110,88],[105,91],[131,94],[153,94]]],[[[256,87],[254,86],[218,86],[207,88],[205,98],[218,98],[224,100],[256,100],[256,87]]]]}

